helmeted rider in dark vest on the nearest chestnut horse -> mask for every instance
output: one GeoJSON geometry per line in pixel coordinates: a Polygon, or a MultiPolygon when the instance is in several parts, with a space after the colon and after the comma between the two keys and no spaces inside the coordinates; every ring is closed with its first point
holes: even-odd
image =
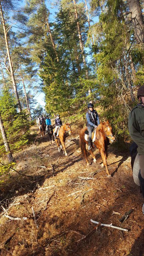
{"type": "Polygon", "coordinates": [[[92,131],[94,128],[100,124],[100,119],[96,110],[94,110],[94,106],[92,103],[88,104],[88,111],[86,113],[86,120],[87,120],[87,129],[89,132],[89,139],[88,139],[88,150],[91,150],[91,142],[92,142],[92,131]]]}

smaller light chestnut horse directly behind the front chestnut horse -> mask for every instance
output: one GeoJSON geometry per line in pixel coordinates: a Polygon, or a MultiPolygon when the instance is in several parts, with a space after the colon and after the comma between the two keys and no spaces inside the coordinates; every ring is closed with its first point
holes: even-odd
{"type": "MultiPolygon", "coordinates": [[[[54,130],[55,129],[53,129],[53,132],[54,132],[54,130]]],[[[63,154],[65,154],[66,156],[68,156],[68,154],[66,152],[66,148],[65,148],[65,140],[66,140],[67,132],[69,135],[72,134],[70,124],[64,124],[64,125],[60,126],[59,136],[57,136],[57,138],[55,139],[59,152],[60,152],[60,150],[62,150],[62,147],[63,147],[63,149],[64,149],[63,154]],[[60,146],[59,146],[59,143],[60,143],[60,146]]]]}

